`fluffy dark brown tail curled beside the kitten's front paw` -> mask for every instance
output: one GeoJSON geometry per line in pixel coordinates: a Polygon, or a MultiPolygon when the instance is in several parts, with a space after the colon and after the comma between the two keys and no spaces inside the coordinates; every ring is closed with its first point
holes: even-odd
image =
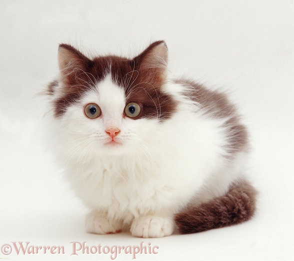
{"type": "Polygon", "coordinates": [[[246,221],[255,211],[256,194],[247,181],[240,181],[225,195],[176,214],[175,223],[181,233],[195,233],[246,221]]]}

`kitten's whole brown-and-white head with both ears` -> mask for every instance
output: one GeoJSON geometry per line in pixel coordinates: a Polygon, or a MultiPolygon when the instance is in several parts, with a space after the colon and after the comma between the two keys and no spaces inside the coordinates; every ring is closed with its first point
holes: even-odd
{"type": "MultiPolygon", "coordinates": [[[[92,59],[70,45],[58,49],[60,77],[48,86],[54,118],[66,142],[120,154],[142,147],[168,119],[176,101],[164,91],[167,47],[150,44],[134,58],[92,59]]],[[[164,134],[164,133],[163,133],[164,134]]]]}

